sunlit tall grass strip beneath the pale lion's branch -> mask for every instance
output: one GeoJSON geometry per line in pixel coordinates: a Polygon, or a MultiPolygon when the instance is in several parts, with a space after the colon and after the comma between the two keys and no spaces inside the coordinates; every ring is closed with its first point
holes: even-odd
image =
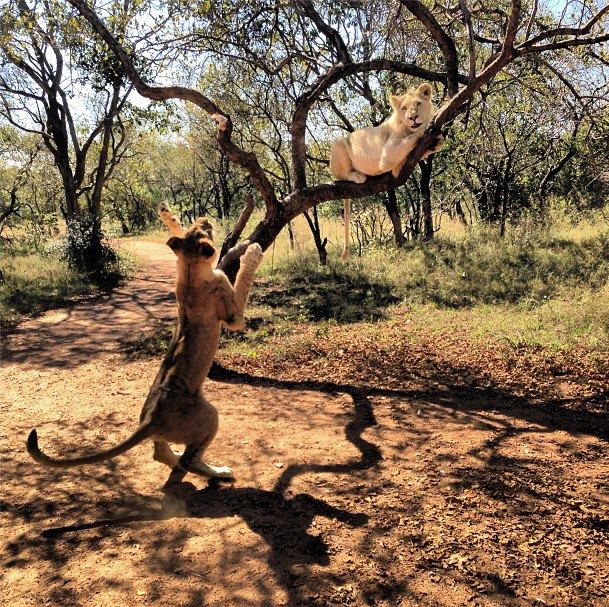
{"type": "Polygon", "coordinates": [[[609,348],[606,222],[523,222],[504,239],[482,226],[452,227],[432,243],[371,247],[347,263],[335,251],[327,268],[312,245],[276,250],[272,267],[267,252],[264,273],[279,295],[256,298],[339,322],[381,318],[399,301],[430,329],[460,324],[514,346],[609,348]]]}

